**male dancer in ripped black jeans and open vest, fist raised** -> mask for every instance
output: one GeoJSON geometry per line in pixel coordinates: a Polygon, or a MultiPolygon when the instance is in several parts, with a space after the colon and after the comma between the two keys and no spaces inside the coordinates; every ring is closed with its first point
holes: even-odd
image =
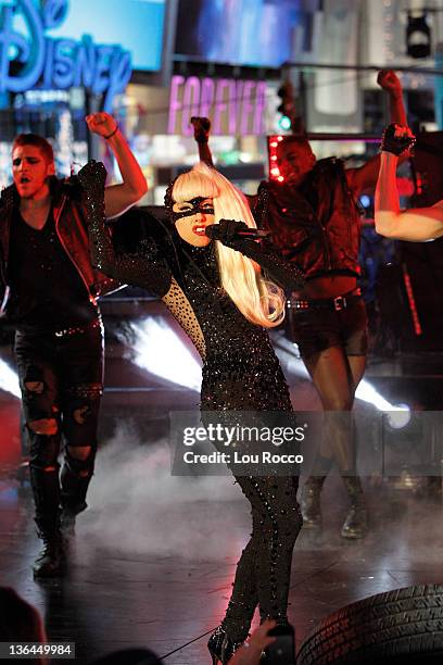
{"type": "MultiPolygon", "coordinates": [[[[113,151],[123,184],[106,187],[112,217],[147,191],[144,176],[107,113],[87,116],[113,151]]],[[[35,577],[63,572],[65,541],[86,493],[97,451],[103,389],[103,334],[97,298],[116,284],[92,268],[87,221],[93,183],[54,177],[51,145],[21,134],[12,148],[13,185],[0,200],[0,279],[7,321],[14,326],[23,411],[30,440],[30,482],[43,549],[35,577]],[[62,435],[64,464],[59,473],[62,435]]]]}

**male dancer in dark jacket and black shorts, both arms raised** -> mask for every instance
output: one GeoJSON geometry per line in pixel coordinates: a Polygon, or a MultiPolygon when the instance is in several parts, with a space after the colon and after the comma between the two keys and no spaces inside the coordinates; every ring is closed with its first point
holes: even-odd
{"type": "MultiPolygon", "coordinates": [[[[389,93],[392,122],[406,124],[395,73],[380,72],[378,83],[389,93]]],[[[193,118],[193,124],[200,159],[212,163],[208,121],[193,118]]],[[[303,290],[290,296],[291,338],[326,412],[326,436],[302,490],[303,522],[307,528],[320,526],[320,491],[336,463],[351,502],[341,535],[362,538],[366,507],[346,412],[353,407],[367,352],[366,311],[357,287],[360,215],[356,201],[362,192],[374,190],[379,158],[347,170],[334,158],[317,162],[304,136],[284,137],[277,156],[284,181],[262,183],[258,198],[250,202],[273,243],[305,274],[303,290]]]]}

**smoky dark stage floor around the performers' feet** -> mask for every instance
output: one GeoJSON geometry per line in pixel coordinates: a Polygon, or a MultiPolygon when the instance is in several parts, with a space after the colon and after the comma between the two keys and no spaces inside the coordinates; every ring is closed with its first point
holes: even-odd
{"type": "MultiPolygon", "coordinates": [[[[228,478],[172,479],[161,455],[140,451],[132,455],[132,485],[124,488],[129,463],[118,462],[122,474],[109,473],[110,460],[97,474],[63,581],[33,581],[38,541],[29,497],[1,485],[1,582],[43,613],[51,640],[76,642],[79,663],[134,644],[149,645],[166,663],[206,663],[205,635],[223,616],[250,529],[245,503],[228,478]]],[[[441,505],[409,491],[366,488],[371,529],[365,540],[339,536],[345,498],[337,477],[324,492],[327,528],[299,538],[289,608],[299,643],[350,602],[442,582],[441,505]]]]}

